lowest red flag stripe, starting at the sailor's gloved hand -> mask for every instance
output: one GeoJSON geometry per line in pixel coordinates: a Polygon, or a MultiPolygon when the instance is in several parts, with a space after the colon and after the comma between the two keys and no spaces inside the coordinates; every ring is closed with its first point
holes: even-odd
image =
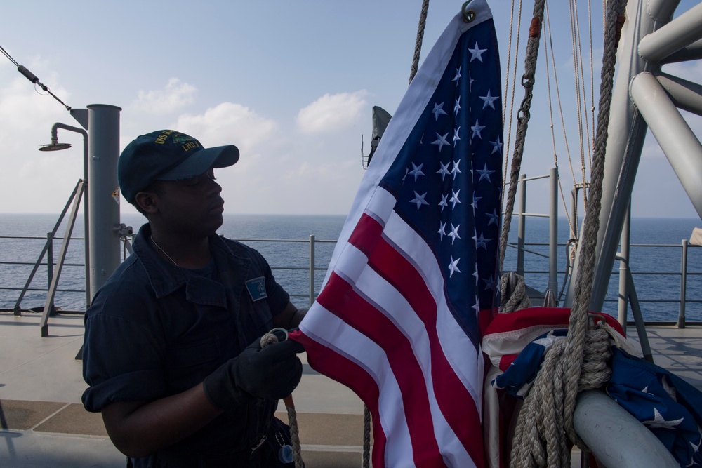
{"type": "Polygon", "coordinates": [[[305,352],[307,352],[307,361],[312,368],[349,387],[363,400],[372,415],[373,467],[385,467],[385,445],[387,439],[385,438],[385,432],[383,432],[383,426],[380,424],[380,417],[378,417],[380,391],[376,381],[357,363],[314,341],[300,330],[293,331],[288,336],[291,340],[302,343],[305,347],[305,352]]]}

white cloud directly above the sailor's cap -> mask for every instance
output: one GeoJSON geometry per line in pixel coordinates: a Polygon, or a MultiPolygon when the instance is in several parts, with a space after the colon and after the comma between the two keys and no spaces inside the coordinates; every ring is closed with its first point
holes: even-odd
{"type": "Polygon", "coordinates": [[[256,114],[249,107],[222,102],[204,114],[178,117],[173,128],[194,136],[206,147],[233,144],[241,152],[247,152],[274,137],[277,123],[256,114]]]}

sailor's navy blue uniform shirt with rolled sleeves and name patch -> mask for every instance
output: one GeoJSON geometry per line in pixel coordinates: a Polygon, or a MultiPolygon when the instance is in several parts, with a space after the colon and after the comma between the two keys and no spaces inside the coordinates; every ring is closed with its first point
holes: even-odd
{"type": "MultiPolygon", "coordinates": [[[[150,236],[150,226],[143,225],[133,255],[86,311],[83,375],[90,388],[83,403],[88,411],[194,387],[267,333],[273,316],[288,305],[288,293],[253,248],[213,234],[213,264],[192,271],[162,260],[150,236]]],[[[167,450],[250,452],[272,424],[276,406],[277,401],[258,400],[223,413],[167,450]]]]}

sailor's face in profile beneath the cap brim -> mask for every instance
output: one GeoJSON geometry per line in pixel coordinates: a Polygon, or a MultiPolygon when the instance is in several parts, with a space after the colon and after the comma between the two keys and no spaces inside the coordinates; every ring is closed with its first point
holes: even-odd
{"type": "Polygon", "coordinates": [[[185,180],[162,180],[159,211],[173,229],[209,235],[222,225],[222,187],[213,169],[185,180]]]}

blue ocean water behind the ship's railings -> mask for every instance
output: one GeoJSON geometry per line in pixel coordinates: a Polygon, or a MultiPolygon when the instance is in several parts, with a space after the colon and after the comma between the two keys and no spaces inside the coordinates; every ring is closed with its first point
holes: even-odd
{"type": "MultiPolygon", "coordinates": [[[[0,214],[0,308],[12,309],[20,290],[25,286],[34,262],[37,261],[46,243],[46,233],[54,229],[58,215],[14,215],[0,214]]],[[[130,225],[136,232],[145,218],[141,215],[124,215],[121,222],[130,225]]],[[[262,253],[270,263],[279,283],[288,290],[298,307],[309,302],[310,279],[310,235],[314,235],[315,274],[314,291],[319,288],[326,274],[331,253],[345,221],[342,215],[225,215],[219,233],[231,239],[239,239],[262,253]],[[259,239],[259,240],[253,240],[259,239]],[[263,239],[263,240],[260,240],[263,239]],[[284,242],[273,242],[284,241],[284,242]]],[[[635,218],[632,220],[632,244],[668,244],[673,247],[632,246],[630,267],[634,273],[637,295],[641,302],[644,319],[649,321],[675,321],[680,297],[680,243],[689,239],[692,229],[702,222],[694,219],[635,218]],[[651,274],[655,273],[655,274],[651,274]]],[[[65,222],[58,227],[53,242],[53,258],[58,260],[65,236],[65,222]]],[[[517,221],[512,222],[510,242],[516,241],[517,221]]],[[[69,241],[65,267],[59,281],[59,292],[55,297],[56,307],[65,310],[84,310],[84,243],[82,218],[79,217],[69,241]]],[[[569,227],[565,218],[559,219],[559,242],[569,238],[569,227]]],[[[528,218],[526,224],[527,243],[548,242],[548,220],[528,218]]],[[[547,253],[548,246],[534,245],[531,250],[547,253]]],[[[702,321],[702,248],[690,247],[687,260],[687,310],[688,321],[702,321]],[[699,301],[699,302],[694,302],[699,301]]],[[[531,253],[525,254],[525,274],[529,286],[545,290],[548,282],[548,262],[531,253]],[[539,273],[536,271],[542,271],[539,273]]],[[[515,269],[516,249],[508,248],[505,271],[515,269]]],[[[558,251],[559,289],[566,269],[564,246],[558,251]]],[[[30,283],[30,290],[22,299],[22,309],[43,307],[46,302],[48,268],[44,265],[30,283]]],[[[614,262],[607,302],[604,312],[616,316],[618,291],[618,262],[614,262]]],[[[631,316],[630,316],[631,319],[631,316]]]]}

